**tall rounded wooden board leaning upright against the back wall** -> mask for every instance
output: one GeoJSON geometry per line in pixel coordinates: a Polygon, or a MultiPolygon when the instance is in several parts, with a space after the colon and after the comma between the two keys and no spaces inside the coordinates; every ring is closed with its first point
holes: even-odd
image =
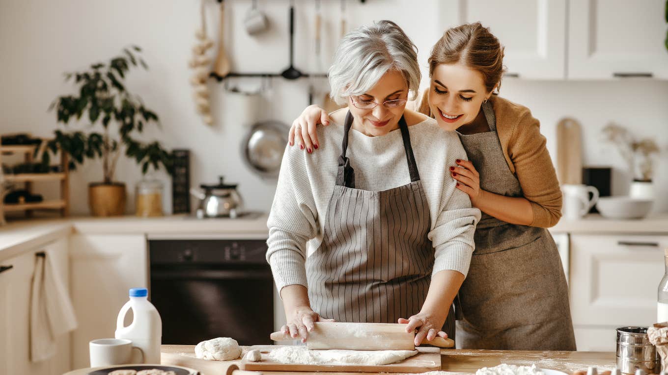
{"type": "Polygon", "coordinates": [[[559,182],[582,183],[582,133],[580,124],[572,118],[556,124],[556,168],[559,182]]]}

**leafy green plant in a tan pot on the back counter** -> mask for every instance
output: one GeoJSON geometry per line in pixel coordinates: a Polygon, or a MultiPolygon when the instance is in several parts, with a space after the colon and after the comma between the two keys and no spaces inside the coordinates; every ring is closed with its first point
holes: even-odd
{"type": "Polygon", "coordinates": [[[76,93],[59,96],[51,103],[57,122],[71,127],[70,121],[83,129],[55,130],[43,153],[43,163],[49,162],[49,151],[58,148],[69,153],[71,167],[85,159],[102,158],[102,181],[88,186],[88,201],[94,216],[122,215],[126,206],[125,183],[115,181],[116,162],[122,153],[134,159],[146,173],[150,167],[172,171],[172,153],[158,141],[144,143],[136,138],[148,125],[160,125],[158,115],[144,106],[142,99],[132,95],[124,79],[131,67],[144,67],[137,46],[123,49],[122,55],[108,63],[96,63],[88,69],[65,73],[76,93]]]}

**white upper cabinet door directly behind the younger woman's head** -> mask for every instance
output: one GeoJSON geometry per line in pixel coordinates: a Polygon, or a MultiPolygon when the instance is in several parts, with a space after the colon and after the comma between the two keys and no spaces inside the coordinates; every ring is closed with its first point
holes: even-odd
{"type": "Polygon", "coordinates": [[[440,14],[444,31],[476,21],[490,27],[505,46],[508,76],[566,77],[566,0],[448,0],[440,14]]]}

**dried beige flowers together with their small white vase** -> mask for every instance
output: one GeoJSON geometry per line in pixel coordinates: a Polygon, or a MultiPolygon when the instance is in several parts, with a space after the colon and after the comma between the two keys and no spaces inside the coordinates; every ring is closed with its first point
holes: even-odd
{"type": "Polygon", "coordinates": [[[617,150],[629,165],[633,176],[629,196],[633,198],[654,198],[654,155],[659,146],[651,138],[635,139],[625,127],[611,123],[603,128],[603,136],[617,146],[617,150]]]}

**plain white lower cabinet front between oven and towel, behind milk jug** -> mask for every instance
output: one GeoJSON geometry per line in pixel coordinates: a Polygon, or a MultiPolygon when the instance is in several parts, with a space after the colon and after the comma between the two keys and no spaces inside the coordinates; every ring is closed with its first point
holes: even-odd
{"type": "Polygon", "coordinates": [[[90,340],[114,337],[128,290],[148,288],[147,258],[144,234],[71,236],[71,294],[79,322],[72,335],[74,368],[89,366],[90,340]]]}

